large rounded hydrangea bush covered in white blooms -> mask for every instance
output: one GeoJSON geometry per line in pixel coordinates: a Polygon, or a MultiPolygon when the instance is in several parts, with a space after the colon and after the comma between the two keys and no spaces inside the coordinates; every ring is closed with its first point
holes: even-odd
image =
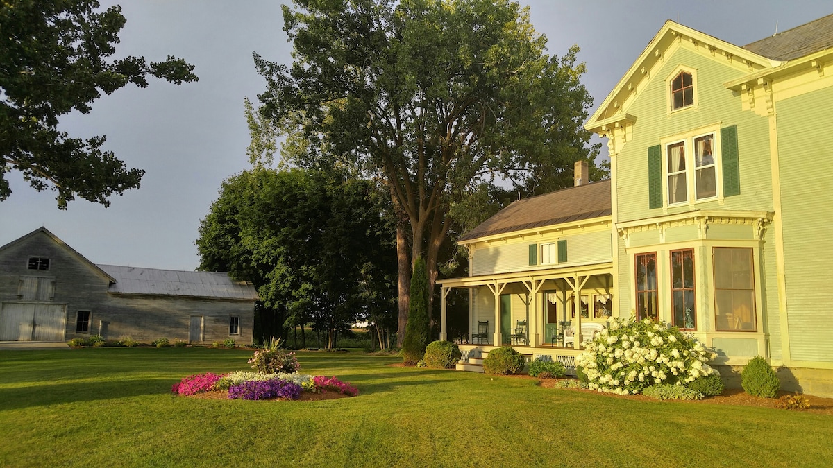
{"type": "Polygon", "coordinates": [[[706,362],[711,351],[663,321],[608,319],[609,326],[586,343],[576,366],[595,391],[629,395],[647,386],[685,386],[697,377],[717,373],[706,362]]]}

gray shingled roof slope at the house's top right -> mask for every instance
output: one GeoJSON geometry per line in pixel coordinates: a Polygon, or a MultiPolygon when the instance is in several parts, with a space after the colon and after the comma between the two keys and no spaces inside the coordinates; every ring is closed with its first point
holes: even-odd
{"type": "Polygon", "coordinates": [[[779,32],[743,46],[750,52],[775,60],[793,60],[833,47],[833,15],[779,32]]]}

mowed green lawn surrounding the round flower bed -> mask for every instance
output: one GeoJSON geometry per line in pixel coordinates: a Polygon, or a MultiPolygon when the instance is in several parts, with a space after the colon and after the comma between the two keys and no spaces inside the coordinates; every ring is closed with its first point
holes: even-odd
{"type": "Polygon", "coordinates": [[[360,396],[172,396],[250,351],[0,351],[0,466],[833,466],[833,417],[631,401],[531,379],[299,352],[360,396]]]}

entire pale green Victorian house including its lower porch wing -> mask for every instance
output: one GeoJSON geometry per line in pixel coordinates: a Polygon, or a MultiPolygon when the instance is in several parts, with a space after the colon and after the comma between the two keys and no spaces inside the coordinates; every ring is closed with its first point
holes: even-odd
{"type": "Polygon", "coordinates": [[[833,15],[742,47],[666,22],[586,127],[607,139],[611,180],[541,198],[561,194],[569,217],[579,190],[607,184],[609,212],[469,233],[472,276],[440,281],[443,297],[471,291],[463,351],[526,320],[528,341],[508,342],[569,364],[581,338],[563,328],[635,313],[714,348],[730,383],[760,355],[782,388],[833,396],[833,15]],[[562,263],[559,239],[580,232],[594,236],[567,250],[593,253],[562,263]]]}

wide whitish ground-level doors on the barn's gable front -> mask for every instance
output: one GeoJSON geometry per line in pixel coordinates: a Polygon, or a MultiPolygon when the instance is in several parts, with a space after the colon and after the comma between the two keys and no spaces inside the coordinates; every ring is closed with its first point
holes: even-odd
{"type": "Polygon", "coordinates": [[[62,304],[2,304],[0,341],[63,341],[66,322],[62,304]]]}

